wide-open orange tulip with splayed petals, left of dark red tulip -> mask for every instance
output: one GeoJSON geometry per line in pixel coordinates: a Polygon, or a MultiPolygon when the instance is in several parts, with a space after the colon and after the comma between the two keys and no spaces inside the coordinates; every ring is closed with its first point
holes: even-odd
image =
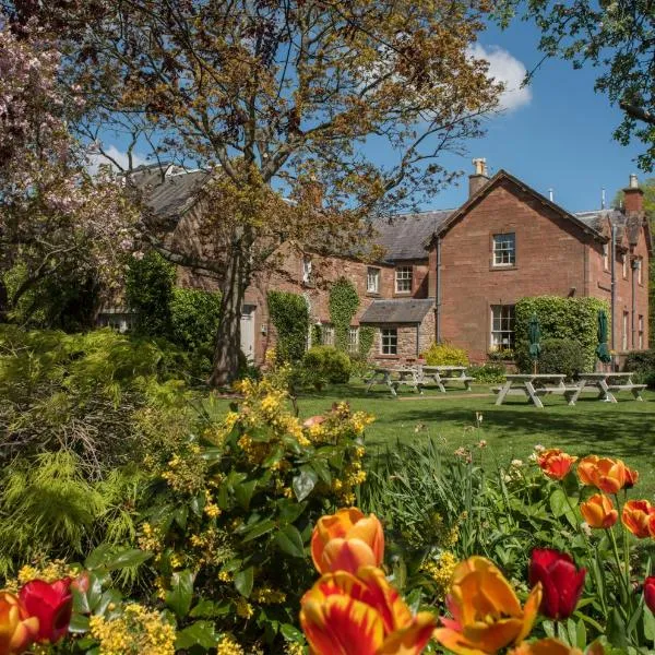
{"type": "Polygon", "coordinates": [[[527,636],[541,602],[541,584],[522,609],[502,573],[489,560],[471,557],[455,569],[445,602],[453,618],[442,617],[444,627],[434,630],[433,638],[460,655],[496,653],[527,636]]]}

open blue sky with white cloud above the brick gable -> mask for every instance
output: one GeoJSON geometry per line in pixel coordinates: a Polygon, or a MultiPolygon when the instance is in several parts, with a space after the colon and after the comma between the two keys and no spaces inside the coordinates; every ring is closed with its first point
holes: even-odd
{"type": "MultiPolygon", "coordinates": [[[[573,70],[568,61],[546,60],[529,87],[520,88],[525,70],[541,59],[538,39],[538,31],[521,21],[507,31],[492,26],[480,35],[476,56],[489,59],[490,73],[507,82],[507,108],[486,121],[486,136],[465,144],[466,156],[440,160],[465,175],[422,209],[456,207],[466,200],[473,157],[485,157],[490,174],[504,168],[546,196],[552,189],[555,201],[571,212],[598,209],[603,188],[609,203],[631,172],[645,178],[634,162],[643,146],[622,146],[611,136],[621,112],[594,92],[597,70],[573,70]]],[[[124,147],[120,141],[105,136],[105,146],[118,158],[124,147]]]]}

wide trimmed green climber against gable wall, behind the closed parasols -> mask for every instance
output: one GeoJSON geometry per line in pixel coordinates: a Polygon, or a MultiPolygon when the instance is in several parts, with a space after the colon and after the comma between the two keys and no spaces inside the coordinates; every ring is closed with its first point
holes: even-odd
{"type": "MultiPolygon", "coordinates": [[[[562,298],[560,296],[537,296],[522,298],[515,307],[516,343],[527,342],[527,324],[533,313],[537,314],[541,327],[541,340],[572,340],[580,344],[584,356],[584,372],[596,366],[598,345],[598,310],[607,312],[606,301],[598,298],[562,298]]],[[[608,333],[611,325],[608,325],[608,333]]]]}

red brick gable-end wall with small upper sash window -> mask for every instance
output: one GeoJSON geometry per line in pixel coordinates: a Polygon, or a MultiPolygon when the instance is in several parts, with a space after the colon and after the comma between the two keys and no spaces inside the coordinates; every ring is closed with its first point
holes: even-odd
{"type": "Polygon", "coordinates": [[[533,194],[503,180],[455,222],[441,240],[441,338],[473,361],[490,346],[491,306],[525,296],[582,295],[588,247],[580,228],[533,194]],[[514,233],[516,265],[491,265],[492,237],[514,233]]]}

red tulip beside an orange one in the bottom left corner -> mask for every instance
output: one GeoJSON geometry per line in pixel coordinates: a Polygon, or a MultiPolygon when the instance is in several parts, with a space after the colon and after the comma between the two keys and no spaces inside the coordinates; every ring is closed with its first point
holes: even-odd
{"type": "Polygon", "coordinates": [[[58,642],[67,632],[73,611],[72,580],[62,577],[52,584],[29,581],[19,593],[21,605],[31,617],[38,618],[36,641],[58,642]]]}

